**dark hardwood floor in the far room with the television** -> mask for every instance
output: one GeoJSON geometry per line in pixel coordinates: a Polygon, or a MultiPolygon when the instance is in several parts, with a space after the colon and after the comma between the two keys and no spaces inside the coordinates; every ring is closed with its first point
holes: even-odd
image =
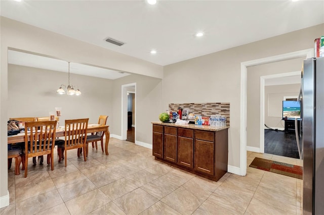
{"type": "Polygon", "coordinates": [[[295,133],[265,129],[264,153],[299,158],[295,133]]]}

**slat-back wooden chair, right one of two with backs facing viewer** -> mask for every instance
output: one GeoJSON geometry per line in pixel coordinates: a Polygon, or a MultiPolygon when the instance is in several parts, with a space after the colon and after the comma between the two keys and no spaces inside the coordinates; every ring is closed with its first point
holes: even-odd
{"type": "MultiPolygon", "coordinates": [[[[77,148],[77,156],[80,156],[80,149],[86,151],[87,129],[89,118],[65,120],[64,144],[59,144],[57,150],[59,151],[59,162],[63,157],[66,167],[67,150],[77,148]]],[[[85,162],[87,161],[86,153],[84,153],[85,162]]]]}

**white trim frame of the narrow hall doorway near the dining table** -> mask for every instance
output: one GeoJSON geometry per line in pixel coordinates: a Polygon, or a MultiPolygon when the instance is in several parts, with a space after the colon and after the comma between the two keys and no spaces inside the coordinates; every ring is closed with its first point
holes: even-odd
{"type": "MultiPolygon", "coordinates": [[[[121,139],[127,139],[127,92],[128,87],[135,87],[135,125],[136,125],[136,83],[123,84],[121,85],[121,139]]],[[[135,141],[136,141],[136,130],[135,130],[135,141]]]]}

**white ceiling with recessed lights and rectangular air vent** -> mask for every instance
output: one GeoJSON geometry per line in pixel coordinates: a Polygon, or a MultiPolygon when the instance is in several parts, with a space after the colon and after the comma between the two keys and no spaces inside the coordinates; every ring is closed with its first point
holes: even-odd
{"type": "Polygon", "coordinates": [[[324,23],[324,1],[2,0],[0,7],[1,16],[163,66],[324,23]]]}

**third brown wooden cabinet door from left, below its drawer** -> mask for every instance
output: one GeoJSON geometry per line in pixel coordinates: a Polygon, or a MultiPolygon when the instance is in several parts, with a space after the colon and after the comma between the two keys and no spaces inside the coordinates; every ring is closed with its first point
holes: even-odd
{"type": "Polygon", "coordinates": [[[193,168],[193,139],[178,137],[178,165],[193,168]]]}

